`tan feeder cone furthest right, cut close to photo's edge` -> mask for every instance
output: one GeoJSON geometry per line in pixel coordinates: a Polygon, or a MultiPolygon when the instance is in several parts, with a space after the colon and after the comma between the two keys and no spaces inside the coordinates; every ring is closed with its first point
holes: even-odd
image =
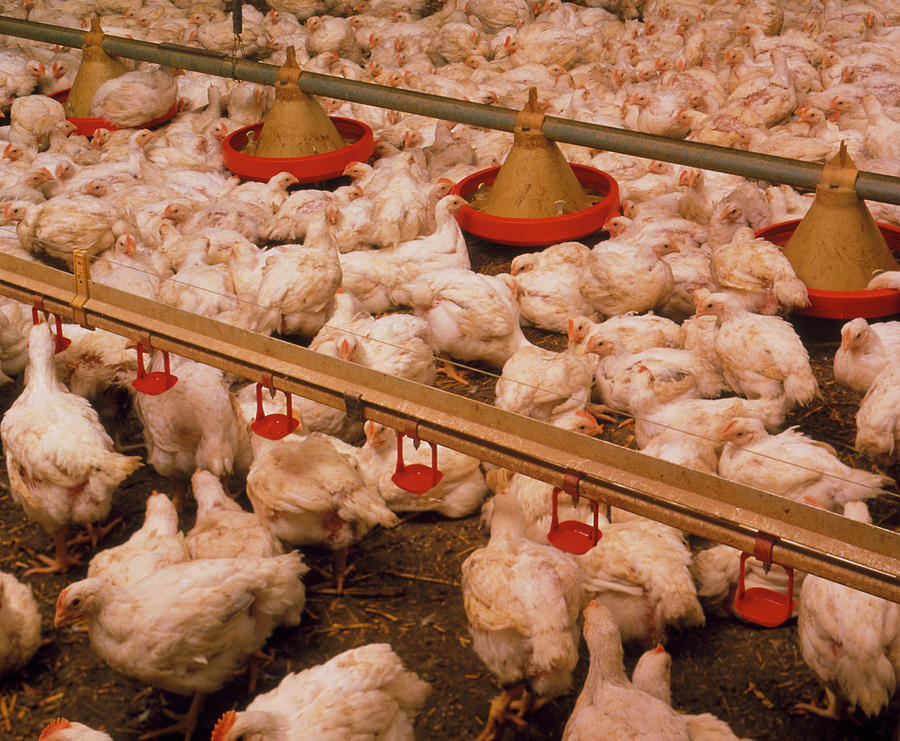
{"type": "Polygon", "coordinates": [[[856,166],[841,148],[822,170],[816,197],[784,254],[807,288],[860,291],[884,270],[897,270],[872,214],[854,190],[856,166]]]}

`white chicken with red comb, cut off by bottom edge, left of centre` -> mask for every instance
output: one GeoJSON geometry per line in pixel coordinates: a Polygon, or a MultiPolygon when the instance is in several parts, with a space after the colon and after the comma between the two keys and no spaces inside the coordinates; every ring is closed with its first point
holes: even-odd
{"type": "Polygon", "coordinates": [[[246,710],[225,713],[211,741],[330,734],[412,741],[412,723],[430,691],[387,643],[369,643],[286,675],[246,710]]]}

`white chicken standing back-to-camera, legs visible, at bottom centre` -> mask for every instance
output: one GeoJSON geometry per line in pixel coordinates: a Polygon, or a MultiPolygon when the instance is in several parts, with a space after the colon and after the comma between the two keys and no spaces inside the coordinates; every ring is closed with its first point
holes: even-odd
{"type": "MultiPolygon", "coordinates": [[[[463,606],[472,648],[504,686],[479,738],[499,738],[514,695],[527,684],[538,698],[565,694],[578,662],[584,589],[569,554],[525,537],[515,500],[495,498],[491,538],[462,565],[463,606]]],[[[522,698],[527,707],[528,692],[522,698]]]]}

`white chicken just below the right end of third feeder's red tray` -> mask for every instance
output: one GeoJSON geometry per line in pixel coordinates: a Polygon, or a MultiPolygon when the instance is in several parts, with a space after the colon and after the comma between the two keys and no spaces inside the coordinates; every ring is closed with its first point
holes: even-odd
{"type": "Polygon", "coordinates": [[[669,264],[651,247],[610,239],[591,250],[581,292],[597,312],[615,316],[652,309],[674,285],[669,264]]]}

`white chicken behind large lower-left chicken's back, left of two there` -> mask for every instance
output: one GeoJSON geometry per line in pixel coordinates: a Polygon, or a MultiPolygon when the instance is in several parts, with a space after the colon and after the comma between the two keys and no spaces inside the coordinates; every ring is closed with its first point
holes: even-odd
{"type": "Polygon", "coordinates": [[[99,577],[118,587],[137,584],[157,569],[190,559],[184,534],[178,529],[178,512],[165,494],[147,497],[144,524],[121,545],[97,553],[88,566],[89,577],[99,577]]]}

